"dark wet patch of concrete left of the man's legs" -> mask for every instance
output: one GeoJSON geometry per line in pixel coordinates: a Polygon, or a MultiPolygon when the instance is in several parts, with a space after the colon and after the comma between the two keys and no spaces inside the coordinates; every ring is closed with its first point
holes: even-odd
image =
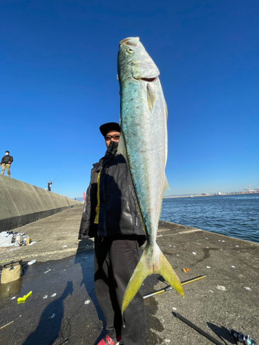
{"type": "MultiPolygon", "coordinates": [[[[156,279],[147,280],[150,292],[156,279]]],[[[0,344],[97,344],[105,334],[94,290],[93,250],[26,266],[18,281],[0,285],[0,305],[0,326],[15,320],[0,331],[0,344]],[[25,304],[18,305],[17,298],[29,291],[25,304]]]]}

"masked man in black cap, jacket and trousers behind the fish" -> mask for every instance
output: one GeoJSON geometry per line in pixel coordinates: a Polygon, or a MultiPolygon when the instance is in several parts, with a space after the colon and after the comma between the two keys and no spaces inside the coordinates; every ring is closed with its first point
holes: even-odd
{"type": "Polygon", "coordinates": [[[145,345],[146,315],[140,291],[124,311],[125,327],[121,306],[146,237],[126,160],[117,153],[119,124],[109,122],[99,130],[107,150],[93,164],[79,228],[79,239],[95,237],[95,294],[108,332],[98,345],[145,345]]]}

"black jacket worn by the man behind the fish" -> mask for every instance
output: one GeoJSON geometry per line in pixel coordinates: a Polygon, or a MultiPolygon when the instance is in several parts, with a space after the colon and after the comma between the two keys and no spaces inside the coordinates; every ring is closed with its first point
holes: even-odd
{"type": "Polygon", "coordinates": [[[145,239],[128,166],[124,157],[117,155],[115,141],[111,141],[105,156],[98,163],[93,164],[81,217],[79,239],[95,237],[97,234],[100,237],[141,235],[142,239],[145,239]],[[97,176],[100,170],[102,171],[99,181],[99,224],[94,224],[97,176]]]}

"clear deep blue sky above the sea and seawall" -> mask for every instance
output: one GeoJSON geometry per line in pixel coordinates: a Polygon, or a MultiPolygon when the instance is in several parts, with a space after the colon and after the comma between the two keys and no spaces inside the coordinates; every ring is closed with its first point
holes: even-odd
{"type": "MultiPolygon", "coordinates": [[[[258,1],[0,3],[0,153],[12,177],[68,197],[119,121],[118,43],[140,37],[169,109],[169,194],[259,187],[258,1]]],[[[159,138],[157,138],[159,139],[159,138]]],[[[155,139],[154,139],[155,140],[155,139]]]]}

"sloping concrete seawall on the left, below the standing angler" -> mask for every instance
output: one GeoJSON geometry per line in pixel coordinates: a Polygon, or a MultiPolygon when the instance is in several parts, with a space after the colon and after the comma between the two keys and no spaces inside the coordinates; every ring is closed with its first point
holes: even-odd
{"type": "Polygon", "coordinates": [[[80,204],[80,201],[0,175],[0,232],[80,204]]]}

